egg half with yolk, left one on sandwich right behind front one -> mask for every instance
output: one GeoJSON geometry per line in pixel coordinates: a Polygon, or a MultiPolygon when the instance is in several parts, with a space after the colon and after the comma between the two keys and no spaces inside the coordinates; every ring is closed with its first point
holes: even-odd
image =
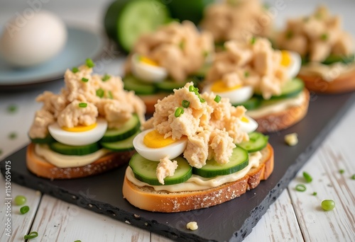
{"type": "Polygon", "coordinates": [[[251,86],[232,86],[228,87],[224,81],[215,81],[204,87],[204,92],[217,94],[222,98],[229,98],[232,104],[244,103],[253,96],[253,88],[251,86]]]}

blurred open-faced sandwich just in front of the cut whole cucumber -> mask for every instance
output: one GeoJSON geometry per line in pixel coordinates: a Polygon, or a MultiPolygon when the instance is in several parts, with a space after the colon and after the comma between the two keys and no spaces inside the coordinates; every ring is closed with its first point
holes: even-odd
{"type": "Polygon", "coordinates": [[[212,35],[200,33],[192,22],[163,25],[134,45],[125,65],[124,88],[135,91],[147,113],[153,113],[158,99],[203,78],[204,64],[213,52],[212,35]]]}

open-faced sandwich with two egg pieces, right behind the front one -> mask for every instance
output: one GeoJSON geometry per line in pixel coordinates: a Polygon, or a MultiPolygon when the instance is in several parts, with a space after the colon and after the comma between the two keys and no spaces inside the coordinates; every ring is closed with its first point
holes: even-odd
{"type": "Polygon", "coordinates": [[[295,79],[301,59],[295,52],[273,50],[266,38],[230,40],[215,55],[203,91],[244,105],[260,132],[275,132],[305,117],[310,99],[295,79]]]}

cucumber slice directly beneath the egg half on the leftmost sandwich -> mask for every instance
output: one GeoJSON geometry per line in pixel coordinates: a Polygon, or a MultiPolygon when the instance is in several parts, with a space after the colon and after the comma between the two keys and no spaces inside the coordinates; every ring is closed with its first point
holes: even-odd
{"type": "Polygon", "coordinates": [[[53,142],[49,144],[49,148],[59,154],[64,154],[67,156],[84,156],[98,151],[99,149],[101,149],[101,146],[99,145],[98,142],[93,144],[80,145],[80,146],[62,144],[60,142],[53,142]]]}

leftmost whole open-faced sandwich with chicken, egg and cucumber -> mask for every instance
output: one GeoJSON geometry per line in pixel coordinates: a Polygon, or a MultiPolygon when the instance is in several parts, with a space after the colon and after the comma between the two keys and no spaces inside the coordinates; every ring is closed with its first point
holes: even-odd
{"type": "Polygon", "coordinates": [[[94,63],[65,71],[59,94],[45,91],[28,132],[28,169],[43,178],[81,178],[128,162],[145,121],[144,103],[119,76],[92,75],[94,63]]]}

